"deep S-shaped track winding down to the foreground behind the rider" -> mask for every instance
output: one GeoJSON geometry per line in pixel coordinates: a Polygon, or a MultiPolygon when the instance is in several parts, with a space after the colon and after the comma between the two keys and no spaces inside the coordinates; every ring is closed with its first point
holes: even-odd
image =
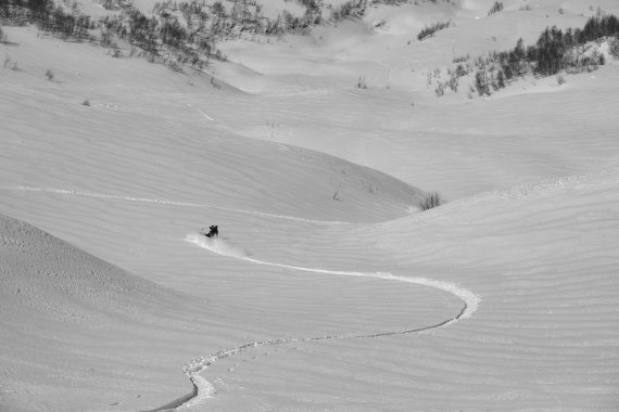
{"type": "MultiPolygon", "coordinates": [[[[258,342],[253,342],[253,343],[244,344],[241,346],[237,346],[233,348],[224,349],[224,350],[217,351],[215,353],[211,353],[211,355],[205,356],[205,357],[194,358],[194,359],[190,360],[189,362],[187,362],[185,364],[185,366],[182,368],[182,370],[184,370],[185,374],[189,377],[191,383],[193,384],[195,396],[188,399],[186,402],[184,402],[181,404],[175,405],[173,410],[179,410],[181,408],[190,408],[190,407],[193,407],[193,405],[202,402],[205,399],[213,398],[215,396],[215,388],[213,387],[213,385],[211,383],[209,383],[209,381],[206,381],[202,376],[200,376],[200,373],[204,372],[213,363],[215,363],[222,359],[231,357],[233,355],[240,353],[244,350],[248,350],[251,348],[257,348],[261,346],[277,346],[277,345],[283,345],[283,344],[294,343],[294,342],[317,342],[317,340],[328,340],[328,339],[367,339],[367,338],[404,335],[404,334],[428,331],[428,330],[432,330],[432,329],[447,326],[452,323],[459,321],[460,319],[470,318],[472,316],[472,313],[477,310],[479,302],[481,301],[481,298],[479,296],[477,296],[475,293],[472,293],[471,291],[464,288],[464,287],[460,287],[460,286],[456,285],[455,283],[451,283],[451,282],[435,281],[435,280],[427,279],[427,278],[397,276],[397,275],[394,275],[390,272],[356,272],[356,271],[342,271],[342,270],[312,269],[312,268],[303,268],[303,267],[291,266],[291,265],[267,262],[267,261],[257,260],[257,259],[254,259],[254,258],[251,258],[248,256],[243,256],[243,255],[229,254],[229,253],[227,253],[229,247],[225,246],[223,241],[217,240],[217,239],[207,240],[203,235],[200,235],[198,233],[188,234],[186,236],[186,241],[194,243],[198,246],[206,248],[206,249],[214,252],[216,254],[228,256],[228,257],[233,257],[233,258],[245,260],[245,261],[256,263],[256,265],[275,266],[275,267],[279,267],[279,268],[293,269],[293,270],[299,270],[299,271],[304,271],[304,272],[383,279],[383,280],[389,280],[389,281],[414,283],[414,284],[419,284],[419,285],[424,285],[424,286],[434,287],[434,288],[439,288],[441,291],[445,291],[445,292],[449,292],[449,293],[457,296],[459,299],[463,300],[464,307],[460,310],[460,312],[457,316],[455,316],[454,318],[444,320],[440,323],[437,323],[437,324],[433,324],[430,326],[424,326],[424,327],[418,327],[418,329],[413,329],[413,330],[383,332],[383,333],[376,333],[376,334],[368,334],[368,335],[325,335],[325,336],[315,336],[315,337],[305,337],[305,338],[276,338],[276,339],[268,339],[268,340],[258,340],[258,342]]],[[[156,409],[156,410],[153,410],[151,412],[156,412],[156,411],[162,411],[162,410],[163,409],[156,409]]]]}

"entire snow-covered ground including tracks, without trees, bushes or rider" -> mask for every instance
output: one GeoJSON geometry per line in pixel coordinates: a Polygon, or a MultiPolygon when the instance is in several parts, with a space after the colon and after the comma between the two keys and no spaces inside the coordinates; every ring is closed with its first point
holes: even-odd
{"type": "Polygon", "coordinates": [[[204,73],[3,27],[0,411],[619,410],[619,64],[427,85],[619,3],[421,3],[204,73]]]}

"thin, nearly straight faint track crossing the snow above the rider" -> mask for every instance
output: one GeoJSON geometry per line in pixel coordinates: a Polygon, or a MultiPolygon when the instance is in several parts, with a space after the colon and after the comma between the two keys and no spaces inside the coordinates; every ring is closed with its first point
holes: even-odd
{"type": "Polygon", "coordinates": [[[126,201],[126,202],[153,203],[153,204],[157,204],[157,205],[168,205],[168,206],[204,207],[204,208],[210,208],[210,209],[228,210],[228,211],[236,211],[236,213],[245,214],[245,215],[254,215],[254,216],[276,218],[276,219],[286,219],[286,220],[295,220],[295,221],[302,221],[302,222],[307,222],[307,223],[316,223],[316,224],[349,224],[348,222],[344,222],[344,221],[313,220],[313,219],[299,218],[299,217],[294,217],[294,216],[268,214],[265,211],[236,209],[236,208],[231,208],[231,207],[207,205],[207,204],[203,204],[203,203],[166,201],[166,199],[149,198],[149,197],[124,196],[124,195],[118,195],[118,194],[80,192],[80,191],[56,189],[56,188],[34,188],[34,186],[25,186],[25,185],[22,185],[22,186],[2,186],[2,185],[0,185],[0,190],[3,190],[3,191],[25,191],[25,192],[45,192],[45,193],[54,193],[54,194],[63,194],[63,195],[71,195],[71,196],[111,198],[111,199],[126,201]]]}

